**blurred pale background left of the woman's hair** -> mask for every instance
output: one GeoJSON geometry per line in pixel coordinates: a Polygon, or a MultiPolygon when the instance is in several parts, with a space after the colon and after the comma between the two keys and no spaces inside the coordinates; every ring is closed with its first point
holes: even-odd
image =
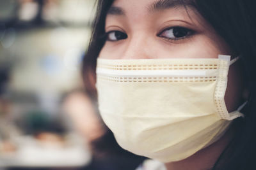
{"type": "Polygon", "coordinates": [[[80,72],[94,13],[94,0],[0,1],[0,169],[92,160],[102,132],[80,72]]]}

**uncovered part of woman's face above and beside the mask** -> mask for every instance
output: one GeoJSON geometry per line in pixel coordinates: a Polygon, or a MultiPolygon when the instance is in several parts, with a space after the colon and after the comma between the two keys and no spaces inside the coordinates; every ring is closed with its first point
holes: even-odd
{"type": "MultiPolygon", "coordinates": [[[[230,48],[193,8],[179,0],[116,0],[108,11],[102,59],[217,58],[230,48]]],[[[225,101],[236,110],[241,85],[236,64],[225,101]]]]}

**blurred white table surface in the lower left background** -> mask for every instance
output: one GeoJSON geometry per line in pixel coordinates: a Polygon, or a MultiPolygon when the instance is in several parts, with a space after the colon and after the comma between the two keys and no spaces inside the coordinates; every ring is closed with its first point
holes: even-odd
{"type": "Polygon", "coordinates": [[[16,152],[0,154],[4,167],[81,167],[92,159],[90,151],[77,136],[70,136],[67,145],[40,143],[31,136],[17,139],[16,152]]]}

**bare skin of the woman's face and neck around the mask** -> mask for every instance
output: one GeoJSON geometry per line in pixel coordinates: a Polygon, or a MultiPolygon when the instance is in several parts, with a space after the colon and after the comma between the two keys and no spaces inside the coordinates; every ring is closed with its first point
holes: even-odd
{"type": "MultiPolygon", "coordinates": [[[[186,10],[184,6],[175,6],[175,8],[148,12],[148,6],[156,1],[114,1],[112,6],[122,9],[123,12],[118,15],[116,13],[107,15],[105,31],[109,32],[108,41],[100,51],[99,57],[102,59],[163,59],[217,58],[219,54],[230,55],[231,50],[227,43],[216,34],[195,8],[188,6],[186,10]],[[172,27],[184,27],[189,31],[186,36],[173,39],[172,27]],[[116,39],[115,31],[122,32],[123,38],[116,39]]],[[[241,80],[241,67],[238,61],[230,66],[228,72],[225,102],[229,112],[236,110],[241,104],[243,91],[241,80]]],[[[211,168],[228,145],[233,133],[231,127],[216,143],[187,159],[167,163],[167,169],[211,168]]]]}

